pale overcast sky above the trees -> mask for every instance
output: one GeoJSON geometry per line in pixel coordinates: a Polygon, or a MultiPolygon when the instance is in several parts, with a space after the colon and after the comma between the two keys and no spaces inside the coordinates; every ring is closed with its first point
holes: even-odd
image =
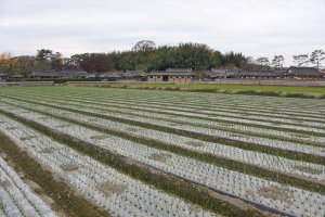
{"type": "Polygon", "coordinates": [[[253,58],[325,50],[325,0],[0,0],[0,52],[207,43],[253,58]]]}

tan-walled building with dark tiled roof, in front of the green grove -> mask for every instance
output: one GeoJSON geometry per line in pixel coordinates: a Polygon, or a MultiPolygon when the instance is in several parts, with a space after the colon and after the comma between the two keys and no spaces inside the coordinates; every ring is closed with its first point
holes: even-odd
{"type": "Polygon", "coordinates": [[[191,68],[168,68],[166,72],[152,72],[147,74],[148,82],[190,84],[195,74],[191,68]]]}

